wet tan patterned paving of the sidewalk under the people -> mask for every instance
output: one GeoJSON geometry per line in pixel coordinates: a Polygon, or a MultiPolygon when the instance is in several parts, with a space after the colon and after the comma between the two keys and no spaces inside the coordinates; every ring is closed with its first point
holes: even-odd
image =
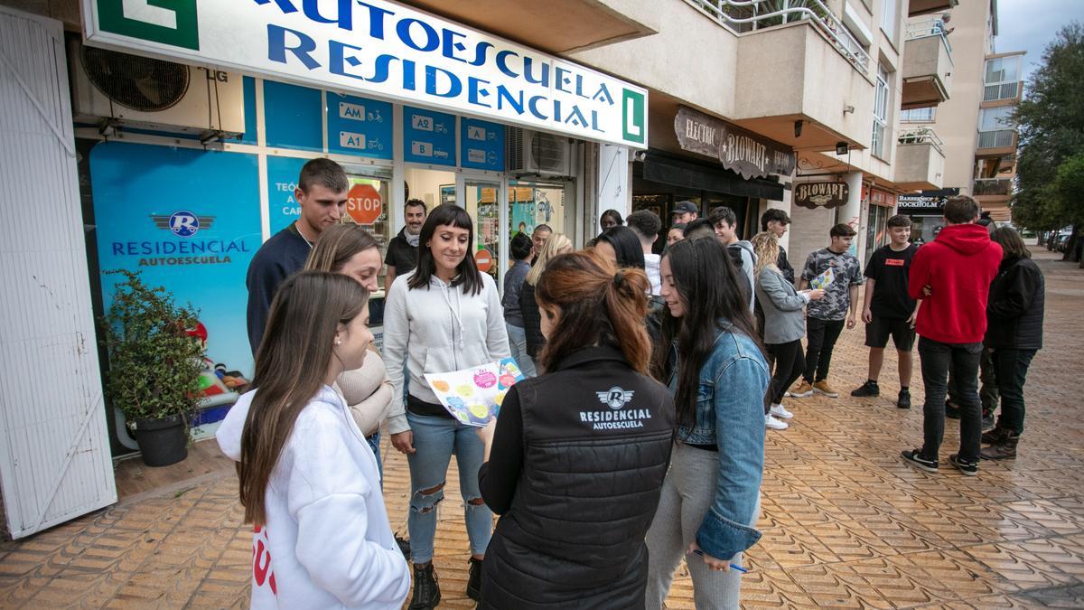
{"type": "MultiPolygon", "coordinates": [[[[903,463],[899,452],[921,442],[921,383],[915,408],[896,409],[889,351],[882,396],[851,398],[866,350],[861,329],[844,331],[830,376],[843,397],[792,399],[791,429],[769,433],[764,537],[746,560],[745,607],[1084,607],[1084,270],[1045,251],[1036,258],[1047,279],[1046,348],[1029,376],[1020,457],[982,462],[975,478],[903,463]]],[[[957,442],[950,421],[943,458],[957,442]]],[[[385,440],[385,497],[392,526],[405,530],[405,459],[388,449],[385,440]]],[[[435,563],[441,606],[469,608],[450,472],[435,563]]],[[[250,529],[240,520],[225,467],[2,543],[0,607],[246,607],[250,529]]],[[[694,608],[687,579],[668,606],[694,608]]]]}

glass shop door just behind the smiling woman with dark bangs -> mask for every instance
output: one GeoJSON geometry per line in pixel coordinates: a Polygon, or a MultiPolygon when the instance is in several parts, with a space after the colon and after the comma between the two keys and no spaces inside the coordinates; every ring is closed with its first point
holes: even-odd
{"type": "Polygon", "coordinates": [[[456,199],[475,225],[475,243],[470,255],[478,270],[489,274],[502,290],[504,271],[508,262],[504,259],[508,242],[504,211],[506,209],[505,181],[492,177],[456,176],[456,199]]]}

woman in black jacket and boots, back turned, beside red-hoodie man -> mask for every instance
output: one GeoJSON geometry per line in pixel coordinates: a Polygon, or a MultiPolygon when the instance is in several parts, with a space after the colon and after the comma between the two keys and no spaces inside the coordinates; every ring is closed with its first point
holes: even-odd
{"type": "Polygon", "coordinates": [[[985,346],[993,351],[994,377],[1002,396],[997,425],[983,433],[990,443],[982,459],[1011,459],[1023,433],[1023,384],[1028,367],[1043,347],[1043,309],[1046,280],[1020,233],[1009,227],[994,229],[990,239],[1002,246],[1002,266],[990,284],[986,301],[985,346]]]}

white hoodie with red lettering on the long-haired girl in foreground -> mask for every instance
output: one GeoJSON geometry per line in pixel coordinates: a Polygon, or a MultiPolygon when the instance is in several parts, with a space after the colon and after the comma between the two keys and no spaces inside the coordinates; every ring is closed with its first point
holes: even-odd
{"type": "MultiPolygon", "coordinates": [[[[237,399],[215,434],[234,460],[255,393],[237,399]]],[[[401,608],[410,571],[379,480],[373,450],[325,385],[298,415],[263,496],[251,608],[401,608]]]]}

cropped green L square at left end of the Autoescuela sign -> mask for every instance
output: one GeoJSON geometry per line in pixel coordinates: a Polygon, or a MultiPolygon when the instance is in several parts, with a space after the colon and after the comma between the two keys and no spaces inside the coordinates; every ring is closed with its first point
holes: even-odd
{"type": "Polygon", "coordinates": [[[96,0],[103,31],[199,50],[196,0],[96,0]]]}

